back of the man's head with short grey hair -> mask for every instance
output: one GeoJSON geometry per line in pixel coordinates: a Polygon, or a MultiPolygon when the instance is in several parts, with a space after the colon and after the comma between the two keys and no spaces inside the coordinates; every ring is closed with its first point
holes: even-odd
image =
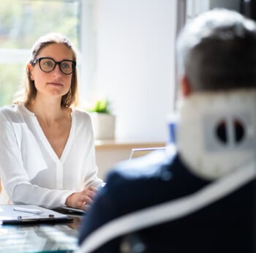
{"type": "Polygon", "coordinates": [[[238,12],[211,10],[177,41],[178,76],[193,91],[256,88],[256,25],[238,12]]]}

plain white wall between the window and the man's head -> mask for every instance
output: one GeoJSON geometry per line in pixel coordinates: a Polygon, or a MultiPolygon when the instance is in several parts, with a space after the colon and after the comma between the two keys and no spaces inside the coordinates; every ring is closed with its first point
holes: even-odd
{"type": "Polygon", "coordinates": [[[113,101],[116,137],[167,140],[175,0],[94,1],[94,88],[113,101]]]}

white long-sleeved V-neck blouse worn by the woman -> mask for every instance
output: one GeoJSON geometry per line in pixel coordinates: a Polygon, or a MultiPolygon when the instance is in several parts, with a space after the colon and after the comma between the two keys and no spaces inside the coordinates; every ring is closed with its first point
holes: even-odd
{"type": "Polygon", "coordinates": [[[86,186],[99,187],[91,118],[72,110],[72,126],[61,158],[24,105],[0,109],[0,204],[64,205],[86,186]]]}

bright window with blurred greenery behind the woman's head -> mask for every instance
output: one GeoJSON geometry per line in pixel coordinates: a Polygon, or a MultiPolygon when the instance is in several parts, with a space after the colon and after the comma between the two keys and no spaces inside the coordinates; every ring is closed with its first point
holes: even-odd
{"type": "Polygon", "coordinates": [[[0,1],[0,106],[12,102],[30,48],[40,36],[52,31],[65,34],[80,51],[82,4],[80,0],[0,1]]]}

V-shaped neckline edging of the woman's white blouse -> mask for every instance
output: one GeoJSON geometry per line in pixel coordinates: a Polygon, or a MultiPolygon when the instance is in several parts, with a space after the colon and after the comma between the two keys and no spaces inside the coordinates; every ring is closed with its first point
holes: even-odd
{"type": "Polygon", "coordinates": [[[70,116],[71,116],[71,127],[69,130],[69,136],[67,138],[67,143],[64,146],[64,149],[61,153],[61,156],[59,157],[56,152],[53,150],[53,147],[50,145],[50,142],[48,138],[45,136],[45,133],[42,130],[42,127],[39,124],[39,121],[37,119],[37,116],[35,113],[31,112],[25,105],[22,105],[23,110],[25,111],[26,114],[29,114],[31,116],[31,119],[34,123],[34,127],[37,131],[37,134],[42,141],[43,145],[45,146],[45,149],[49,152],[50,156],[56,160],[56,162],[64,162],[66,159],[66,156],[68,154],[69,148],[71,147],[72,143],[72,137],[74,135],[74,129],[75,129],[75,112],[73,109],[71,109],[70,116]]]}

